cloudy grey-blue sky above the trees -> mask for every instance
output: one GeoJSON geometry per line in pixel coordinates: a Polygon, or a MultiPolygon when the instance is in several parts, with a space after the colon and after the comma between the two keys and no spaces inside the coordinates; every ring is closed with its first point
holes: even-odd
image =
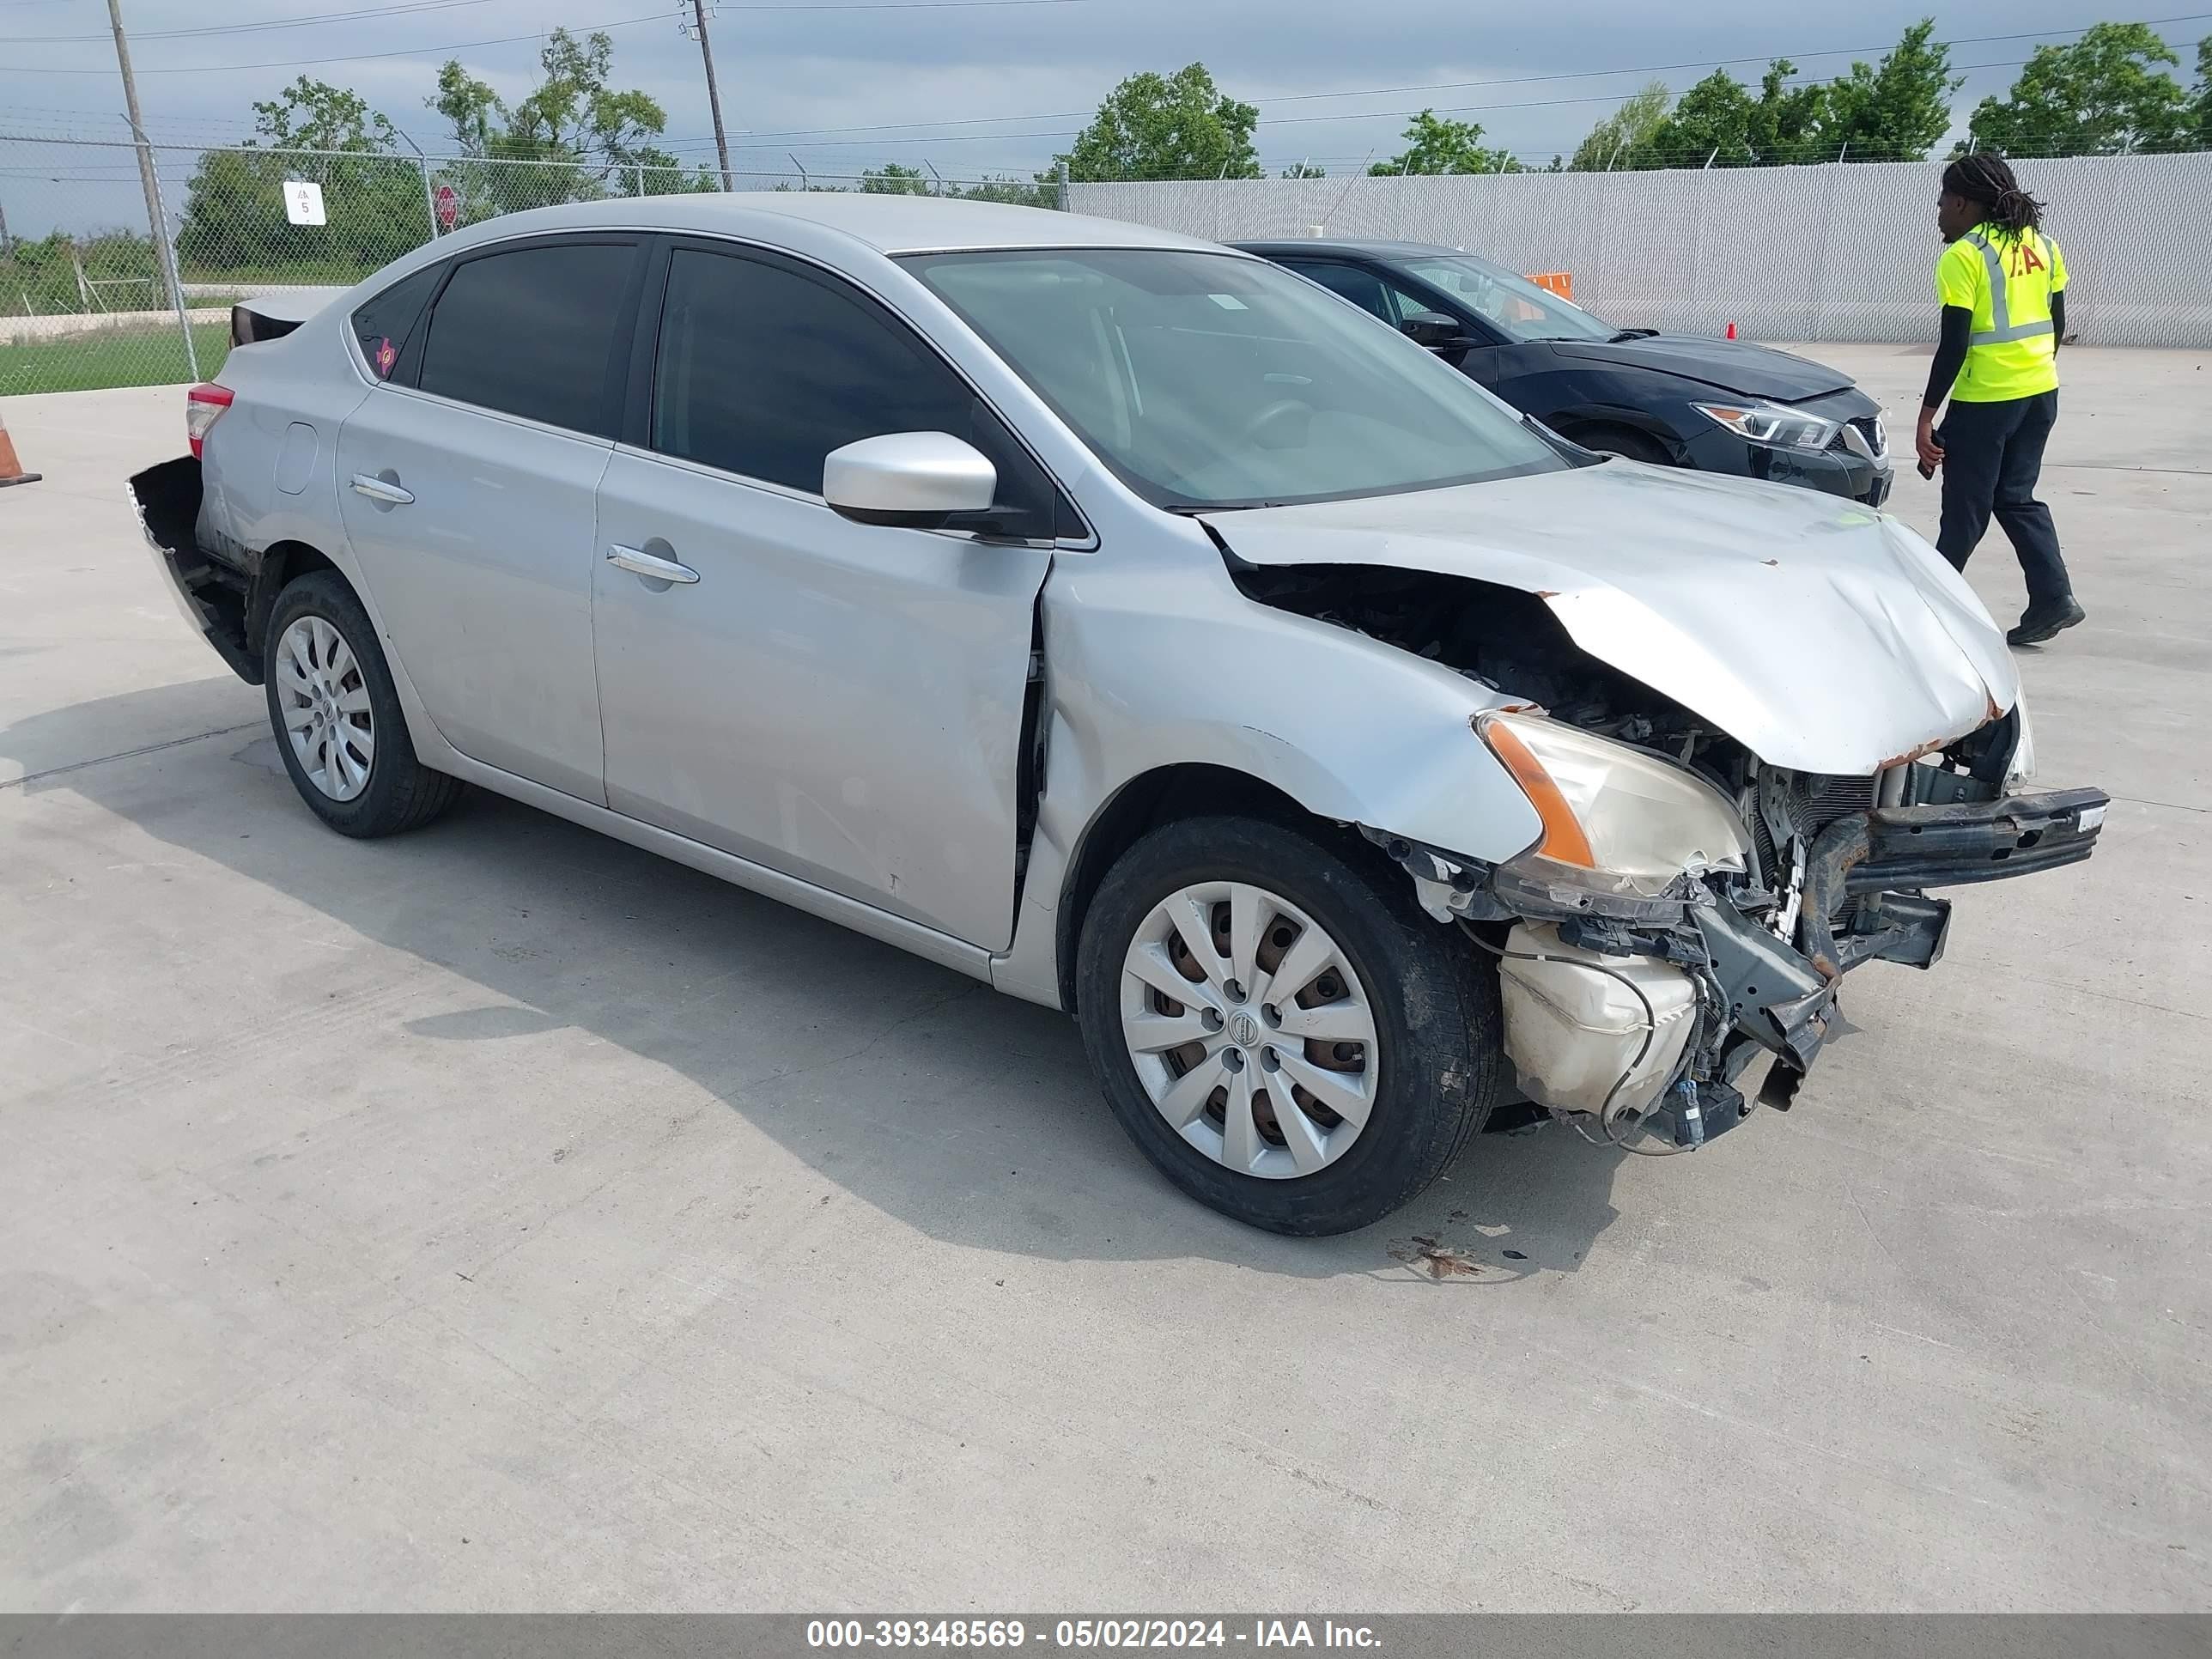
{"type": "MultiPolygon", "coordinates": [[[[1832,75],[1854,55],[1880,55],[1929,9],[1931,0],[1798,13],[1750,0],[726,0],[710,29],[741,168],[790,170],[796,153],[821,175],[885,159],[927,161],[945,177],[1029,173],[1064,148],[1121,75],[1201,60],[1223,88],[1261,106],[1270,170],[1314,159],[1349,173],[1369,150],[1396,148],[1422,104],[1480,119],[1489,142],[1548,159],[1652,75],[1681,91],[1732,60],[1739,77],[1756,80],[1770,55],[1832,75]]],[[[157,139],[243,137],[252,102],[307,73],[356,88],[436,153],[425,97],[445,58],[520,95],[533,84],[538,35],[566,24],[606,29],[617,84],[653,93],[668,108],[668,146],[706,157],[699,51],[677,15],[677,0],[124,0],[157,139]],[[288,18],[323,20],[268,27],[288,18]]],[[[1940,15],[1958,42],[1953,62],[1969,69],[1964,111],[2011,84],[2037,40],[2135,13],[2084,0],[1958,0],[1940,15]]],[[[2154,9],[2152,20],[2183,46],[2212,13],[2154,9]]],[[[104,0],[0,0],[0,133],[108,135],[119,106],[104,0]],[[55,35],[75,40],[40,40],[55,35]]],[[[11,159],[22,146],[13,157],[0,146],[0,173],[11,159]]]]}

